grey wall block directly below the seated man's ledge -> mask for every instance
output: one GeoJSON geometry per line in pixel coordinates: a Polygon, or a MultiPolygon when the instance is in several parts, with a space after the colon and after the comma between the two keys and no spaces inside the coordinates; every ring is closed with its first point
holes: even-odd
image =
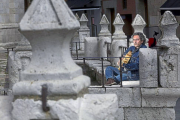
{"type": "Polygon", "coordinates": [[[107,88],[106,93],[118,96],[119,107],[141,107],[140,88],[107,88]]]}

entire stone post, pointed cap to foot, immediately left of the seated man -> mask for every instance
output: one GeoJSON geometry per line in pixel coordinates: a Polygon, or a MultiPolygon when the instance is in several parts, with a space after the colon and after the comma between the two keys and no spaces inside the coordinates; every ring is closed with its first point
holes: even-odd
{"type": "MultiPolygon", "coordinates": [[[[119,13],[116,16],[113,25],[115,26],[115,32],[112,36],[111,57],[121,57],[123,51],[120,47],[127,47],[127,36],[123,32],[124,21],[119,13]]],[[[119,58],[111,58],[113,66],[117,66],[118,61],[119,58]]]]}

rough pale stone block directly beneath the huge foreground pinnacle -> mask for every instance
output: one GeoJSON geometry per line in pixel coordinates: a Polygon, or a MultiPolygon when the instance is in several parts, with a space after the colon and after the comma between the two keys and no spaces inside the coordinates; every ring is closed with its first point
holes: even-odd
{"type": "Polygon", "coordinates": [[[17,99],[13,102],[12,116],[15,120],[61,119],[79,120],[80,99],[47,101],[49,112],[43,112],[42,102],[32,99],[17,99]]]}

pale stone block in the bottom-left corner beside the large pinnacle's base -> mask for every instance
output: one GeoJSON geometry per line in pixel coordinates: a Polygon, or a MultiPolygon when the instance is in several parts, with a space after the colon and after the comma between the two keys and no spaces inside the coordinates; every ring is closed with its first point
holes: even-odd
{"type": "Polygon", "coordinates": [[[13,96],[0,96],[0,119],[11,120],[13,96]]]}

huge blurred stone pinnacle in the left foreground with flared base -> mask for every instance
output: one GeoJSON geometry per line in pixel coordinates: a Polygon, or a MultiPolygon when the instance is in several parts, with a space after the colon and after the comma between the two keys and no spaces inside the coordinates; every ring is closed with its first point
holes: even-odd
{"type": "Polygon", "coordinates": [[[64,0],[32,2],[20,22],[21,33],[32,46],[32,57],[20,74],[20,82],[13,86],[14,95],[41,95],[43,84],[47,84],[49,95],[77,95],[90,85],[69,50],[79,27],[64,0]]]}

